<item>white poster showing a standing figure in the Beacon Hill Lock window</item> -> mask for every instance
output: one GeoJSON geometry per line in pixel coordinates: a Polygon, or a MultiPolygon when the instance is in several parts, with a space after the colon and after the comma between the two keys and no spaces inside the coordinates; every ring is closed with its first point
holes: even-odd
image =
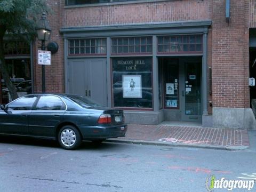
{"type": "Polygon", "coordinates": [[[123,75],[123,98],[142,98],[141,75],[123,75]]]}

